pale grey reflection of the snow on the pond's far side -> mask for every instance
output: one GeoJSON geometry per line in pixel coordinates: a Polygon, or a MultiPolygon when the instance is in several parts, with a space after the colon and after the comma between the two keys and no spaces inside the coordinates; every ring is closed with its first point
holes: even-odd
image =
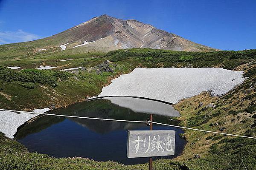
{"type": "Polygon", "coordinates": [[[111,103],[123,108],[129,108],[134,112],[153,113],[164,116],[177,117],[180,113],[172,105],[148,99],[138,99],[134,97],[104,97],[111,103]]]}

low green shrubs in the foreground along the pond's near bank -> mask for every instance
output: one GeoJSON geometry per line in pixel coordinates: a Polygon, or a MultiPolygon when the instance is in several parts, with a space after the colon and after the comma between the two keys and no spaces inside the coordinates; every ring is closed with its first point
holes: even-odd
{"type": "MultiPolygon", "coordinates": [[[[222,139],[212,144],[210,155],[184,161],[160,159],[153,161],[156,170],[254,170],[256,141],[253,139],[222,139]]],[[[123,165],[113,161],[97,162],[84,158],[53,158],[45,154],[28,153],[18,142],[0,134],[1,170],[148,170],[148,164],[123,165]]]]}

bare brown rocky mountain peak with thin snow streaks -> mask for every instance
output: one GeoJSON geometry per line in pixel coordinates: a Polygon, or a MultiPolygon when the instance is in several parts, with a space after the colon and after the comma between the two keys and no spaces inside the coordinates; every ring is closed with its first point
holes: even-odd
{"type": "Polygon", "coordinates": [[[23,42],[38,51],[112,51],[125,48],[154,48],[175,51],[218,51],[186,40],[137,20],[121,20],[106,14],[41,40],[23,42]]]}

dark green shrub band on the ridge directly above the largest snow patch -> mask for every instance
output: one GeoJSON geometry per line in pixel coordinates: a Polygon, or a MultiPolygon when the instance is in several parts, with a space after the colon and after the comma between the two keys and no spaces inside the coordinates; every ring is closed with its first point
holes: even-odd
{"type": "Polygon", "coordinates": [[[256,50],[244,51],[214,51],[214,52],[185,52],[156,50],[148,48],[132,48],[127,50],[110,51],[106,55],[113,62],[131,61],[146,67],[214,67],[219,66],[234,69],[236,66],[250,62],[256,58],[256,50]],[[150,56],[150,60],[146,57],[150,56]],[[146,62],[145,62],[146,61],[146,62]]]}

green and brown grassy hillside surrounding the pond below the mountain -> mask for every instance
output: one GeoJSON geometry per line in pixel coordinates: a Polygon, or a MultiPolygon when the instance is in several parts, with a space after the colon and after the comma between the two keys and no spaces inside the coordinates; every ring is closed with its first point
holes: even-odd
{"type": "MultiPolygon", "coordinates": [[[[223,67],[244,71],[248,77],[228,94],[212,97],[204,92],[180,101],[180,125],[245,136],[256,136],[256,50],[218,52],[178,52],[134,48],[107,54],[41,54],[29,58],[6,58],[0,67],[0,108],[31,110],[38,107],[62,107],[99,94],[102,87],[120,74],[136,67],[223,67]],[[99,57],[101,58],[92,58],[99,57]],[[56,62],[60,59],[73,59],[56,62]],[[106,64],[105,60],[111,62],[106,64]],[[105,63],[105,64],[104,64],[105,63]],[[17,65],[22,70],[6,66],[17,65]],[[39,65],[58,67],[39,71],[39,65]],[[102,68],[109,67],[107,72],[102,68]],[[63,72],[64,68],[84,67],[81,71],[63,72]],[[26,102],[24,102],[26,101],[26,102]],[[213,103],[215,108],[199,107],[213,103]],[[224,128],[223,128],[224,127],[224,128]]],[[[186,130],[183,154],[173,160],[154,161],[156,170],[254,170],[256,140],[186,130]],[[195,159],[195,155],[201,156],[195,159]]],[[[56,159],[28,153],[21,144],[0,135],[0,169],[142,169],[148,164],[124,166],[115,162],[96,162],[82,158],[56,159]]]]}

